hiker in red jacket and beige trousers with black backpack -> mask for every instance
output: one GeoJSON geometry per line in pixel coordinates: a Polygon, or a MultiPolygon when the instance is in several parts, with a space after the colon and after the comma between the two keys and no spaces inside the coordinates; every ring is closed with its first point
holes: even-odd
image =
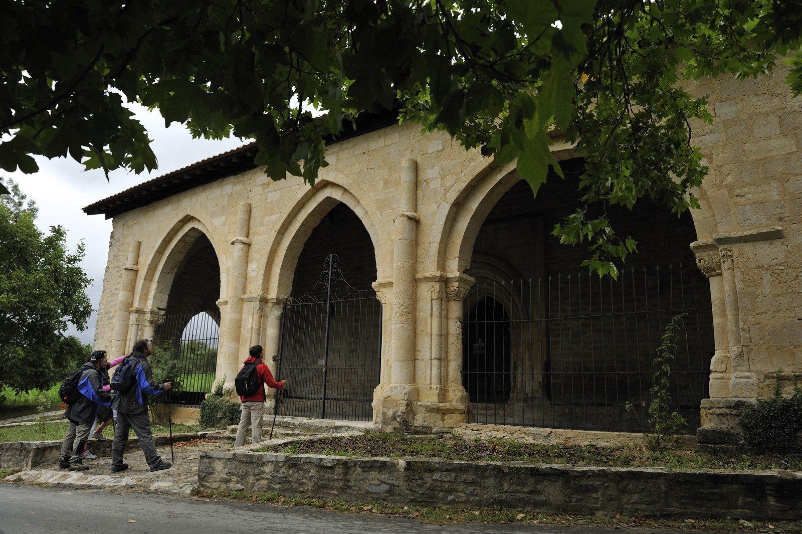
{"type": "Polygon", "coordinates": [[[261,443],[261,421],[265,414],[265,384],[276,390],[282,390],[287,383],[286,380],[276,382],[273,380],[273,373],[265,362],[261,361],[264,355],[261,345],[254,345],[248,350],[249,357],[245,358],[242,369],[237,378],[234,378],[234,386],[237,394],[240,395],[240,425],[237,427],[237,438],[234,439],[234,447],[245,445],[245,435],[248,433],[248,426],[251,427],[251,443],[261,443]]]}

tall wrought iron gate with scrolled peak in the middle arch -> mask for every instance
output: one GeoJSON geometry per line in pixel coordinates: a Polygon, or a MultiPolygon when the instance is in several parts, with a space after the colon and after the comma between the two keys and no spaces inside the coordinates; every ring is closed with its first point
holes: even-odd
{"type": "Polygon", "coordinates": [[[330,254],[317,283],[287,299],[278,378],[286,378],[282,415],[373,419],[379,384],[382,305],[373,289],[355,289],[330,254]]]}

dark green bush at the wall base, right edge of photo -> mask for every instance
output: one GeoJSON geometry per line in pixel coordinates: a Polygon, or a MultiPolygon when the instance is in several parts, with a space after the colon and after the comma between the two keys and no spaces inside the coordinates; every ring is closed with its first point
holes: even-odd
{"type": "Polygon", "coordinates": [[[802,430],[802,386],[800,377],[793,375],[793,394],[783,397],[780,393],[780,378],[776,374],[774,395],[761,398],[743,412],[739,424],[743,439],[757,452],[787,454],[800,452],[800,430],[802,430]]]}

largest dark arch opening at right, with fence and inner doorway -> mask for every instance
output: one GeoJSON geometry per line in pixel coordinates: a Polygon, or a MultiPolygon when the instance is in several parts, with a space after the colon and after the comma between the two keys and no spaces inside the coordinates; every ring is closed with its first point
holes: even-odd
{"type": "MultiPolygon", "coordinates": [[[[580,202],[581,161],[563,162],[563,168],[565,180],[549,177],[537,198],[523,180],[512,184],[477,233],[467,271],[476,284],[464,301],[463,328],[494,327],[492,318],[481,324],[472,302],[496,295],[508,314],[510,346],[504,354],[511,354],[512,384],[510,394],[504,386],[496,394],[469,390],[469,420],[644,431],[658,346],[666,326],[683,315],[670,406],[692,433],[708,394],[714,334],[710,287],[689,246],[696,239],[691,216],[676,216],[648,199],[632,210],[591,206],[604,212],[620,235],[638,242],[638,253],[619,265],[617,279],[600,278],[581,265],[586,249],[561,245],[551,235],[580,202]],[[627,410],[627,403],[635,409],[627,410]]],[[[463,371],[469,377],[476,365],[469,351],[478,342],[464,336],[463,371]]],[[[499,350],[485,345],[484,350],[499,350]]]]}

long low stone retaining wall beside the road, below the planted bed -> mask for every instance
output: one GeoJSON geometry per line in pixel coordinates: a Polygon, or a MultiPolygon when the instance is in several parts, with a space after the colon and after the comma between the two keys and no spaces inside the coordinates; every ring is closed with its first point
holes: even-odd
{"type": "Polygon", "coordinates": [[[567,467],[236,451],[204,452],[210,492],[279,493],[549,514],[802,519],[802,473],[567,467]]]}

